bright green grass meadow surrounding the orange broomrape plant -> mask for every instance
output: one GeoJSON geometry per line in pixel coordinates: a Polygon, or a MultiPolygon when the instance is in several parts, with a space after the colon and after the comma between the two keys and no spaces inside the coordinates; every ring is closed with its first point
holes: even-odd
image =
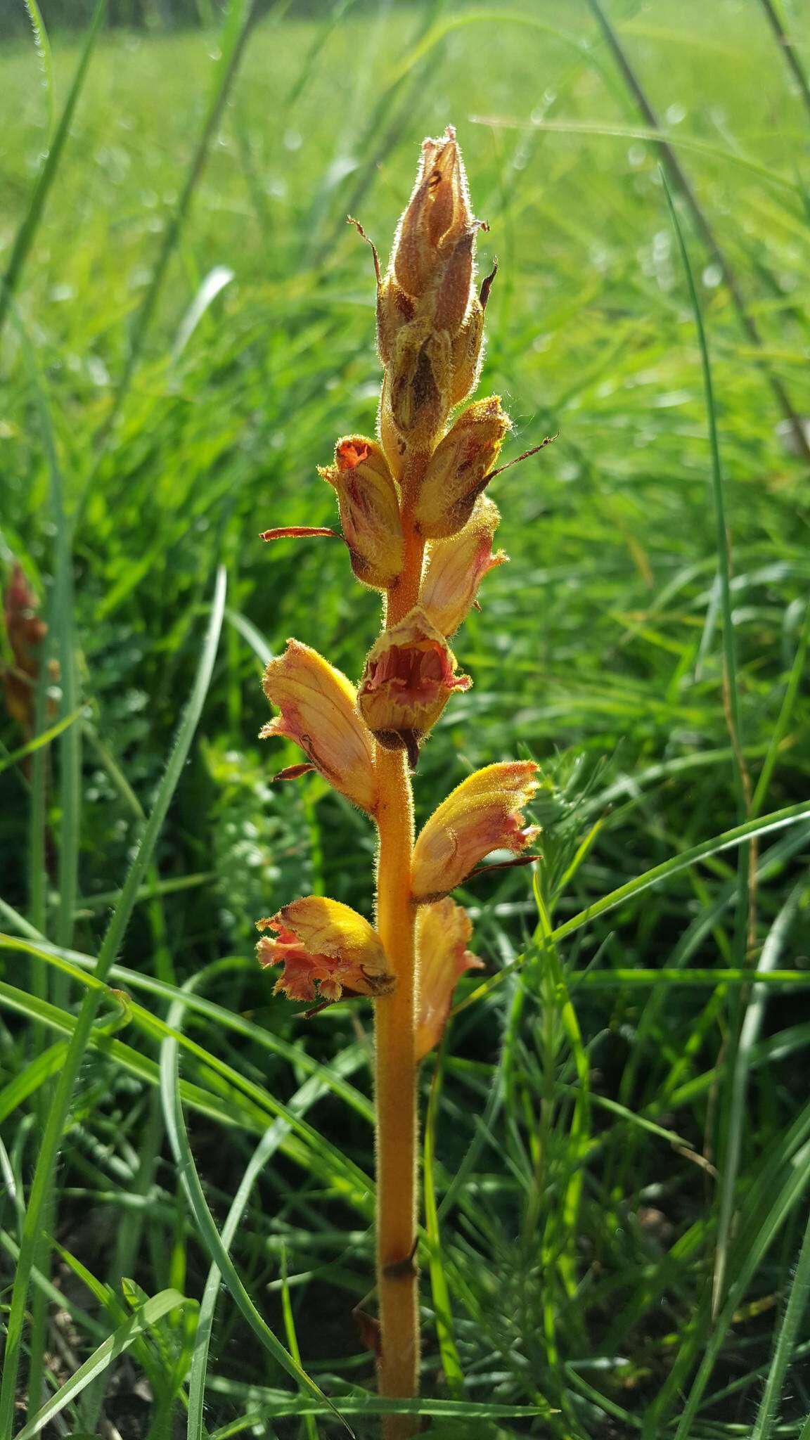
{"type": "Polygon", "coordinates": [[[0,1440],[378,1433],[369,1014],[303,1022],[252,956],[295,894],[369,910],[366,822],[255,736],[262,660],[357,675],[376,599],[258,533],[333,520],[316,465],[379,383],[344,216],[385,251],[448,121],[500,262],[481,393],[506,458],[559,438],[493,485],[512,563],[417,776],[421,815],[510,755],[545,780],[533,888],[461,897],[489,975],[424,1073],[424,1433],[810,1433],[810,505],[774,392],[810,412],[810,115],[760,0],[607,4],[757,344],[595,9],[235,6],[84,72],[86,35],[4,45],[0,566],[62,684],[40,744],[0,720],[0,1440]]]}

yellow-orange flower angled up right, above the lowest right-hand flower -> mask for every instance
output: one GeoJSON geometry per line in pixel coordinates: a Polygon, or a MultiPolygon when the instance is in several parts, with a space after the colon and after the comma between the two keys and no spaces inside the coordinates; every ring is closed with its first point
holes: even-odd
{"type": "Polygon", "coordinates": [[[412,893],[421,903],[460,886],[491,850],[519,854],[539,835],[523,806],[538,789],[533,760],[502,760],[474,770],[441,802],[414,848],[412,893]]]}

